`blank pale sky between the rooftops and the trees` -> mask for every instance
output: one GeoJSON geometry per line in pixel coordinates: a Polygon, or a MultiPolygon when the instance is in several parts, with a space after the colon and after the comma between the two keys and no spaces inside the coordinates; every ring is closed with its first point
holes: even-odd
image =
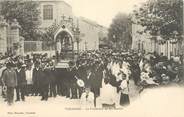
{"type": "Polygon", "coordinates": [[[131,13],[134,6],[146,0],[64,0],[73,8],[76,16],[86,17],[109,27],[117,13],[131,13]]]}

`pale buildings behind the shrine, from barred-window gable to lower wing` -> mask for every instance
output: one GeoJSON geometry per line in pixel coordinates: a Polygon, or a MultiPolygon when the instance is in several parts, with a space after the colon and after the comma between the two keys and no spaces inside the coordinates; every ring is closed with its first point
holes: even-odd
{"type": "MultiPolygon", "coordinates": [[[[74,50],[98,50],[100,32],[107,32],[107,28],[84,17],[73,15],[72,7],[62,0],[37,0],[41,10],[41,29],[47,29],[53,24],[60,25],[73,37],[74,50]],[[70,20],[70,21],[69,21],[70,20]],[[80,34],[76,37],[73,28],[78,28],[80,34]],[[106,30],[105,30],[106,29],[106,30]],[[79,38],[78,41],[76,41],[79,38]],[[79,48],[77,47],[79,46],[79,48]]],[[[57,32],[57,31],[56,31],[57,32]]],[[[61,30],[62,32],[62,30],[61,30]]],[[[104,33],[107,34],[107,33],[104,33]]]]}

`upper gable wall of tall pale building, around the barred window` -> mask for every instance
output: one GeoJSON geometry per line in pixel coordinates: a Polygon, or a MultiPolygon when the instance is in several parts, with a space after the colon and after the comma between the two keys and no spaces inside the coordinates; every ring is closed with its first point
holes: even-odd
{"type": "Polygon", "coordinates": [[[63,17],[73,18],[72,7],[61,0],[35,0],[40,4],[40,28],[48,28],[53,23],[59,23],[63,17]]]}

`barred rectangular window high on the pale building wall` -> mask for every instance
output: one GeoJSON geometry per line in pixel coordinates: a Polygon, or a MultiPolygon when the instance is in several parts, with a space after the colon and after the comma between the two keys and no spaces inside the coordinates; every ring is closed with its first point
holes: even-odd
{"type": "Polygon", "coordinates": [[[43,6],[43,20],[53,20],[53,5],[43,6]]]}

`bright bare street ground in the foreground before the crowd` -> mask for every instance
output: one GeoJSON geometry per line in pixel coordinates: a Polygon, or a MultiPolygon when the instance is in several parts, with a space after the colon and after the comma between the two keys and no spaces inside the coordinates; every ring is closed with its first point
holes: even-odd
{"type": "MultiPolygon", "coordinates": [[[[48,101],[40,101],[41,97],[30,96],[26,97],[25,102],[15,102],[13,106],[7,106],[3,99],[0,98],[0,117],[60,117],[63,114],[67,115],[67,117],[73,117],[78,114],[78,111],[91,116],[97,116],[95,114],[101,113],[106,117],[119,116],[117,115],[118,113],[126,115],[126,117],[184,117],[183,86],[183,83],[180,85],[172,83],[169,86],[145,89],[139,94],[139,88],[130,80],[130,106],[121,108],[117,106],[117,109],[111,111],[81,110],[79,99],[71,100],[61,96],[49,98],[48,101]],[[102,113],[104,111],[105,113],[102,113]],[[24,114],[11,114],[14,112],[24,112],[24,114]]],[[[99,98],[97,99],[97,108],[100,108],[101,105],[98,100],[99,98]]],[[[80,116],[86,117],[85,114],[80,116]]]]}

